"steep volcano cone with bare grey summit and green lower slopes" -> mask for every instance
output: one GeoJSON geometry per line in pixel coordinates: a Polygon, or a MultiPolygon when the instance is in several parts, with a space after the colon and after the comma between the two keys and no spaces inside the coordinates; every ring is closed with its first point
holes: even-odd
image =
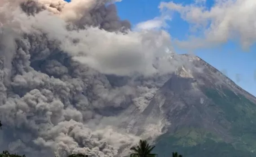
{"type": "Polygon", "coordinates": [[[201,58],[182,57],[194,66],[179,68],[142,112],[169,123],[155,140],[155,153],[255,157],[256,98],[201,58]]]}

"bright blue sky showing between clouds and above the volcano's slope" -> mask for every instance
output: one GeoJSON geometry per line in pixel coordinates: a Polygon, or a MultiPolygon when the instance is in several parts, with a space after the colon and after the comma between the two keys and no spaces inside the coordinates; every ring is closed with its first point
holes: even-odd
{"type": "MultiPolygon", "coordinates": [[[[228,0],[226,0],[228,1],[228,0]]],[[[252,0],[245,0],[247,2],[252,0]]],[[[160,2],[170,2],[170,0],[122,0],[116,3],[118,14],[121,19],[129,20],[133,26],[154,17],[161,16],[159,10],[160,2]]],[[[191,4],[194,0],[172,0],[177,4],[191,4]]],[[[206,0],[205,6],[211,9],[214,0],[206,0]]],[[[241,4],[240,4],[241,5],[241,4]]],[[[179,13],[170,12],[172,17],[165,28],[173,39],[186,40],[190,34],[190,23],[184,21],[179,13]]],[[[175,47],[177,53],[188,52],[188,49],[175,47]]],[[[227,76],[243,89],[256,96],[256,46],[252,45],[250,50],[244,51],[237,41],[223,42],[218,47],[196,49],[194,53],[216,67],[225,71],[227,76]],[[240,80],[237,79],[239,75],[240,80]]]]}

